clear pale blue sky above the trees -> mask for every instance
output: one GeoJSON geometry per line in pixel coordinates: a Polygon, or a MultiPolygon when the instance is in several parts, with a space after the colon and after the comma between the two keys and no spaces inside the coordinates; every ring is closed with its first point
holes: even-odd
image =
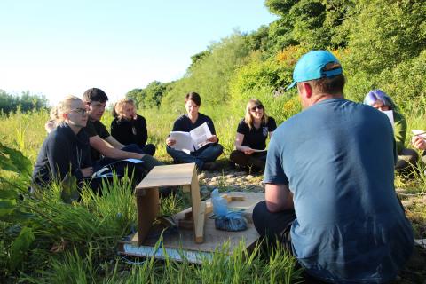
{"type": "Polygon", "coordinates": [[[277,17],[264,0],[1,0],[0,89],[51,105],[98,87],[110,101],[181,78],[191,56],[277,17]]]}

